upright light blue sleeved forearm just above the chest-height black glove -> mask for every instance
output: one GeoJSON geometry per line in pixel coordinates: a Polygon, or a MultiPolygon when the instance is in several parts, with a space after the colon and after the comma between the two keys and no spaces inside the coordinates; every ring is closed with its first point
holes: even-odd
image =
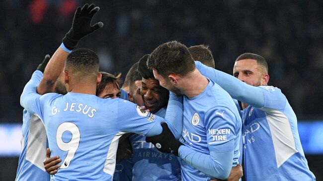
{"type": "Polygon", "coordinates": [[[165,120],[171,132],[176,139],[180,138],[183,128],[183,97],[177,97],[175,94],[169,94],[165,120]]]}

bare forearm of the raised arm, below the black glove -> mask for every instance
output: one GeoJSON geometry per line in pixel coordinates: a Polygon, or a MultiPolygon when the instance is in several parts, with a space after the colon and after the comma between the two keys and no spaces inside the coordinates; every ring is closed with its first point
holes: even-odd
{"type": "Polygon", "coordinates": [[[63,48],[59,47],[51,60],[48,62],[44,76],[37,87],[37,93],[40,95],[54,92],[55,82],[63,71],[65,60],[69,53],[63,48]]]}

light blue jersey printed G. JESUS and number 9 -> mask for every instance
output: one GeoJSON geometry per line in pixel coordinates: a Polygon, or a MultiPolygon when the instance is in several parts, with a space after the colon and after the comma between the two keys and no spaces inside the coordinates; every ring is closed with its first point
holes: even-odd
{"type": "Polygon", "coordinates": [[[71,92],[40,96],[36,93],[40,79],[41,72],[35,71],[20,103],[44,122],[51,154],[62,159],[54,181],[112,181],[121,135],[161,133],[164,119],[129,101],[71,92]]]}

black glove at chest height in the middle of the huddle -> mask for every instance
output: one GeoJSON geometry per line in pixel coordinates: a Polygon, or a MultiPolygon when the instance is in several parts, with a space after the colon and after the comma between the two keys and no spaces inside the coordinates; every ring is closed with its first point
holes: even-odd
{"type": "Polygon", "coordinates": [[[163,153],[172,153],[178,156],[178,148],[183,144],[175,139],[175,136],[169,130],[166,123],[161,123],[161,127],[161,134],[152,137],[146,137],[146,142],[153,143],[156,148],[163,153]]]}

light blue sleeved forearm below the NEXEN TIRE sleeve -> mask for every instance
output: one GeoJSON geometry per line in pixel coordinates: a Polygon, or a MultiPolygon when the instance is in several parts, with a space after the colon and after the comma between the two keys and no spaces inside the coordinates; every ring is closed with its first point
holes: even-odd
{"type": "Polygon", "coordinates": [[[211,153],[197,152],[188,146],[179,147],[179,157],[195,169],[211,177],[226,180],[231,172],[234,151],[211,153]]]}

